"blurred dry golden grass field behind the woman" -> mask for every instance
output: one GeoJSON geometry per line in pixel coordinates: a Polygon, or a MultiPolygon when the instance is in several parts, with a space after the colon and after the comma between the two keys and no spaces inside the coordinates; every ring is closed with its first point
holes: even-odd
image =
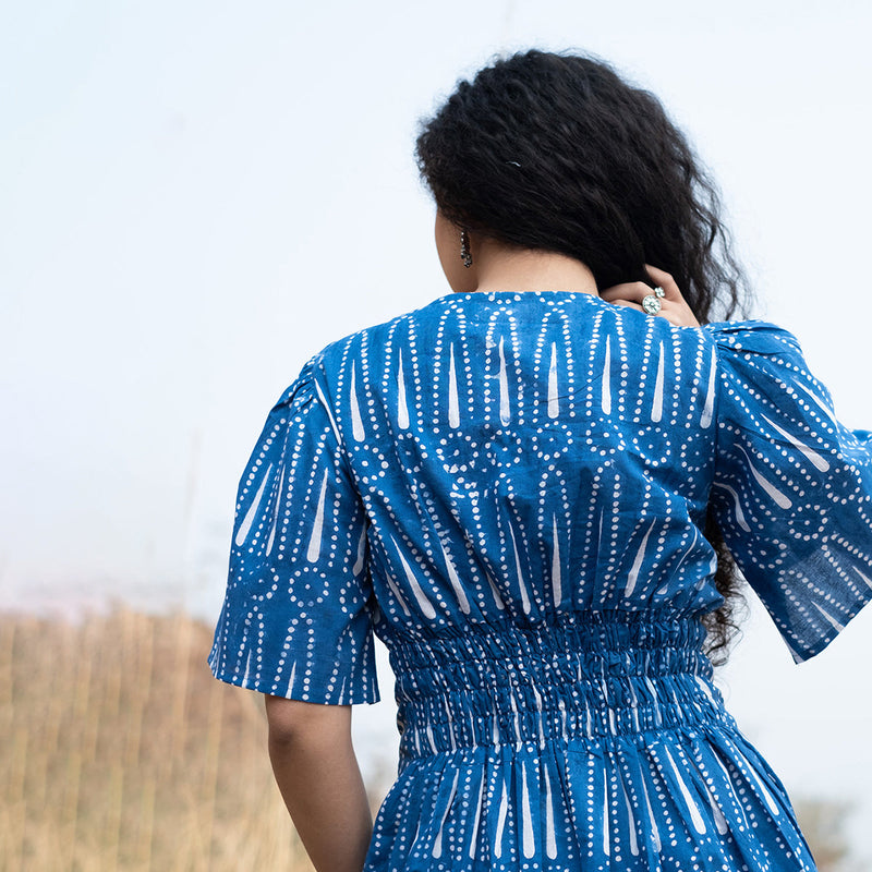
{"type": "MultiPolygon", "coordinates": [[[[310,872],[261,697],[211,677],[210,643],[182,616],[0,614],[0,872],[310,872]]],[[[797,811],[820,872],[865,869],[848,807],[797,811]]]]}

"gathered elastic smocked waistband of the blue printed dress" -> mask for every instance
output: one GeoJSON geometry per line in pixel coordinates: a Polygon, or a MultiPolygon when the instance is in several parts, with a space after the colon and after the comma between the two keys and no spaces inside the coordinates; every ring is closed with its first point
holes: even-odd
{"type": "Polygon", "coordinates": [[[698,617],[596,611],[387,641],[403,759],[730,720],[698,617]]]}

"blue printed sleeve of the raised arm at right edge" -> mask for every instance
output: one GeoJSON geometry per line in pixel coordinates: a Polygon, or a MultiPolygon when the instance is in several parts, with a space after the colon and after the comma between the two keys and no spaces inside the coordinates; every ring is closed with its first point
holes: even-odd
{"type": "Polygon", "coordinates": [[[872,433],[839,423],[789,331],[753,320],[706,329],[718,375],[711,504],[800,663],[872,598],[872,433]]]}

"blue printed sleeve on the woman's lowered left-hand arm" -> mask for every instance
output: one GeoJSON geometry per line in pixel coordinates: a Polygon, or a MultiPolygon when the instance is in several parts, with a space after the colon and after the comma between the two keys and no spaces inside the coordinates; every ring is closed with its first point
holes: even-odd
{"type": "Polygon", "coordinates": [[[367,519],[317,359],[269,412],[240,482],[208,662],[216,678],[262,693],[378,702],[367,519]]]}

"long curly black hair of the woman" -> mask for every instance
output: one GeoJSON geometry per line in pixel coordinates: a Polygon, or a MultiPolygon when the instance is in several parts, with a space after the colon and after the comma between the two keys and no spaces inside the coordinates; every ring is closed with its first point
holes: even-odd
{"type": "MultiPolygon", "coordinates": [[[[597,288],[669,272],[701,324],[747,313],[750,290],[720,220],[717,186],[650,92],[593,56],[532,49],[461,80],[422,121],[417,166],[459,227],[584,263],[597,288]],[[716,313],[716,315],[715,315],[716,313]]],[[[706,652],[726,661],[741,578],[710,510],[724,596],[706,652]]]]}

